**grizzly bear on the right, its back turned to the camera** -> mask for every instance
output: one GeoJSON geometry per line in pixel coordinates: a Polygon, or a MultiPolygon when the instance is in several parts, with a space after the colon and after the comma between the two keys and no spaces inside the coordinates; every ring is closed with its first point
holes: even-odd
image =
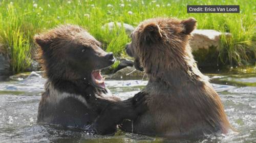
{"type": "Polygon", "coordinates": [[[132,33],[126,52],[134,57],[135,68],[147,74],[142,90],[147,110],[133,121],[125,120],[122,130],[167,137],[232,130],[220,97],[191,54],[188,42],[196,23],[194,18],[154,18],[132,33]]]}

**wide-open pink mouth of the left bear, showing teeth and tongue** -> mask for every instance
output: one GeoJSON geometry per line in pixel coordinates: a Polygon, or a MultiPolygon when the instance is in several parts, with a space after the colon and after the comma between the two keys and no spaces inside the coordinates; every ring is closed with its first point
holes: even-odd
{"type": "Polygon", "coordinates": [[[92,76],[92,82],[94,85],[96,85],[97,87],[102,88],[102,89],[105,88],[105,82],[104,82],[105,78],[103,78],[101,76],[100,70],[94,70],[91,73],[91,76],[92,76]]]}

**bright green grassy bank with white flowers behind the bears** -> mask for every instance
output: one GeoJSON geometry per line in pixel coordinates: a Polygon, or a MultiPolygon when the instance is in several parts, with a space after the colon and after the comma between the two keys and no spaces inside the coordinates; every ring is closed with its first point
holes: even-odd
{"type": "MultiPolygon", "coordinates": [[[[124,45],[130,41],[123,29],[109,32],[101,26],[119,21],[136,26],[152,17],[195,17],[198,28],[230,32],[222,38],[219,61],[225,64],[252,63],[255,48],[256,1],[0,1],[0,43],[8,54],[12,70],[19,72],[30,65],[32,37],[58,24],[81,25],[103,43],[103,48],[123,55],[124,45]],[[240,14],[188,14],[186,5],[240,5],[240,14]]],[[[2,49],[2,50],[3,50],[2,49]]]]}

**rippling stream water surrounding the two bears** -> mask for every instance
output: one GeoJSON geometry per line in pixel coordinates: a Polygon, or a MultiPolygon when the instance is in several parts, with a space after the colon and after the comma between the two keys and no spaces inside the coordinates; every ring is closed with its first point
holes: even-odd
{"type": "MultiPolygon", "coordinates": [[[[90,135],[73,129],[36,124],[44,78],[34,75],[19,81],[0,82],[0,142],[256,142],[255,74],[212,75],[231,125],[238,134],[207,136],[193,140],[169,140],[118,131],[114,136],[90,135]],[[248,84],[247,84],[248,83],[248,84]]],[[[113,94],[127,99],[139,92],[146,81],[108,80],[113,94]]]]}

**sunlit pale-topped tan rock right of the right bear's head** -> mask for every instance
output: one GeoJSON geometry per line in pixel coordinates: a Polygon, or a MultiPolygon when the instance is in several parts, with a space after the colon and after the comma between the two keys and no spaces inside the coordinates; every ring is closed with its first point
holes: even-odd
{"type": "Polygon", "coordinates": [[[191,33],[190,46],[193,51],[198,49],[208,49],[209,47],[220,47],[221,35],[230,36],[230,33],[221,33],[215,30],[195,30],[191,33]]]}

